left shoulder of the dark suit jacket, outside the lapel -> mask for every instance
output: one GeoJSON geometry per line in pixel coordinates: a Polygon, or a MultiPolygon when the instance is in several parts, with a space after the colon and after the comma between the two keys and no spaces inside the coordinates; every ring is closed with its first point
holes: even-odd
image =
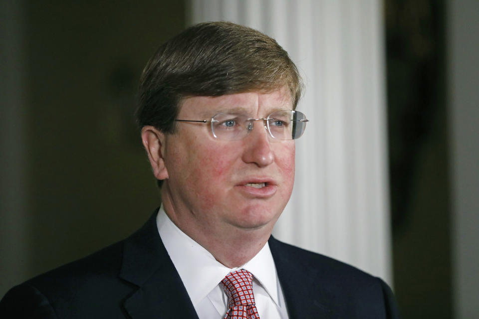
{"type": "Polygon", "coordinates": [[[56,314],[68,314],[75,318],[76,314],[97,311],[101,304],[108,304],[107,299],[131,291],[131,284],[118,278],[122,252],[123,242],[118,242],[13,287],[0,301],[0,317],[57,318],[56,314]],[[104,300],[99,296],[105,296],[104,300]]]}

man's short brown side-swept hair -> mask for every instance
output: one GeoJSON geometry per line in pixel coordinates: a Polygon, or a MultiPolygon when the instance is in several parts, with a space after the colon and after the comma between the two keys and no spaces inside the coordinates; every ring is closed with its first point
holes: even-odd
{"type": "Polygon", "coordinates": [[[231,22],[193,25],[160,46],[145,66],[136,112],[140,127],[173,133],[181,100],[289,88],[293,108],[301,77],[272,38],[231,22]]]}

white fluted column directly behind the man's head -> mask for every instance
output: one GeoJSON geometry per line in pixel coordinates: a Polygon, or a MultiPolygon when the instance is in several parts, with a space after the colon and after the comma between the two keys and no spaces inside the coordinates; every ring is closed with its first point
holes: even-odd
{"type": "Polygon", "coordinates": [[[190,23],[229,20],[275,38],[306,83],[310,123],[274,235],[391,282],[380,0],[191,0],[190,23]]]}

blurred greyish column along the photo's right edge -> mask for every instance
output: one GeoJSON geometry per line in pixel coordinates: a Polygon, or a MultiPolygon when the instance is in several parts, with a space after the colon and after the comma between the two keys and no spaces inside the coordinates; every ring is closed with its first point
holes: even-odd
{"type": "Polygon", "coordinates": [[[454,311],[479,318],[479,2],[447,2],[454,311]]]}

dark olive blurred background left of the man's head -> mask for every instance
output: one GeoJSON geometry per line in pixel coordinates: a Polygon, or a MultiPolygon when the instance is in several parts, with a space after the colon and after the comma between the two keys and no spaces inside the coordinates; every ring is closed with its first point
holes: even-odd
{"type": "Polygon", "coordinates": [[[186,22],[184,1],[2,1],[0,10],[3,296],[126,237],[159,206],[133,113],[144,65],[186,22]],[[12,238],[19,249],[3,246],[12,238]]]}

